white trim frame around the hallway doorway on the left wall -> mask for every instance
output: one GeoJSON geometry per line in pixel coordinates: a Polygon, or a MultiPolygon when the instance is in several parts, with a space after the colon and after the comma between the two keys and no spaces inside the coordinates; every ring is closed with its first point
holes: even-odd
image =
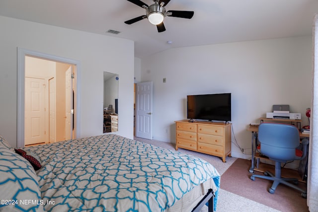
{"type": "Polygon", "coordinates": [[[28,49],[17,48],[17,147],[24,146],[24,95],[25,95],[25,56],[38,57],[61,63],[73,64],[76,67],[76,121],[75,135],[80,138],[80,62],[28,49]]]}

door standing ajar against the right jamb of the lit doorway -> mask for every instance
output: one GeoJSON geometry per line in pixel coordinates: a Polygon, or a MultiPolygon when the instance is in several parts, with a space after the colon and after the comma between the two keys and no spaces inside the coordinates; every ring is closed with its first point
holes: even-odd
{"type": "Polygon", "coordinates": [[[65,72],[65,140],[72,139],[73,131],[73,89],[72,89],[72,67],[65,72]]]}

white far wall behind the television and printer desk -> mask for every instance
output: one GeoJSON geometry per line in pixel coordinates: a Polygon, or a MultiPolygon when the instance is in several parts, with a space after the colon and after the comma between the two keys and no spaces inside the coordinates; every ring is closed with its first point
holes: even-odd
{"type": "MultiPolygon", "coordinates": [[[[308,124],[311,60],[311,36],[177,48],[143,58],[141,79],[154,86],[153,137],[175,142],[174,121],[186,119],[187,95],[230,92],[235,138],[250,154],[246,128],[273,104],[289,104],[308,124]]],[[[248,158],[234,142],[232,135],[232,155],[248,158]]]]}

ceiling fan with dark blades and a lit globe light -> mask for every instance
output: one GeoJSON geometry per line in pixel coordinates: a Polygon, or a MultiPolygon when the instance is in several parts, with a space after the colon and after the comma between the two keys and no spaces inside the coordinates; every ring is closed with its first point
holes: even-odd
{"type": "Polygon", "coordinates": [[[157,25],[158,32],[165,31],[163,24],[163,18],[165,16],[172,16],[178,18],[192,18],[194,11],[183,11],[183,10],[168,10],[166,11],[164,6],[169,3],[170,0],[153,0],[155,3],[148,6],[141,0],[128,0],[140,7],[146,9],[146,15],[141,15],[139,17],[125,21],[127,24],[132,24],[137,21],[147,18],[150,23],[157,25]]]}

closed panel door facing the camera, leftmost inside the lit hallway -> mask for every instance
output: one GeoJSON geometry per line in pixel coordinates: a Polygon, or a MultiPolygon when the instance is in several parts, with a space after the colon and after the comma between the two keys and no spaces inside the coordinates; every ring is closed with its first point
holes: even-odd
{"type": "Polygon", "coordinates": [[[24,144],[45,142],[45,81],[25,77],[24,144]]]}

